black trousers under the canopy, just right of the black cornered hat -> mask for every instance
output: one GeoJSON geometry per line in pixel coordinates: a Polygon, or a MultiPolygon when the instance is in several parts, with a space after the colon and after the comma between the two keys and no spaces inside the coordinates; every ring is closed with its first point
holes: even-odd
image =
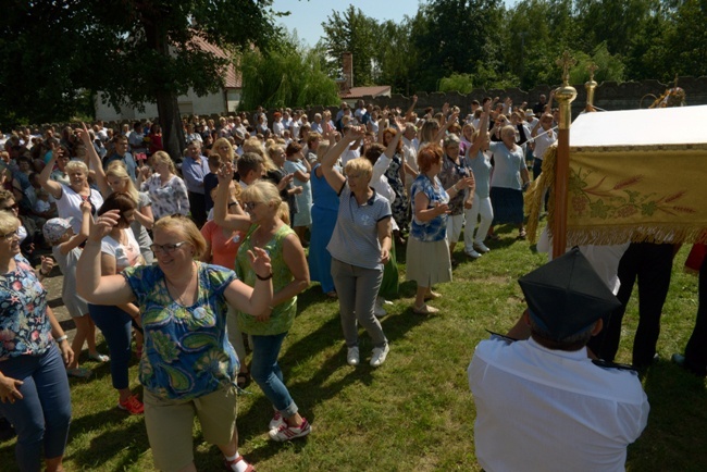
{"type": "MultiPolygon", "coordinates": [[[[619,262],[621,288],[617,309],[604,330],[592,338],[588,347],[600,359],[613,361],[619,350],[621,324],[633,285],[638,281],[638,327],[633,339],[633,365],[645,367],[653,362],[660,334],[660,313],[670,288],[673,246],[670,244],[632,243],[619,262]]],[[[707,320],[706,320],[707,322],[707,320]]]]}

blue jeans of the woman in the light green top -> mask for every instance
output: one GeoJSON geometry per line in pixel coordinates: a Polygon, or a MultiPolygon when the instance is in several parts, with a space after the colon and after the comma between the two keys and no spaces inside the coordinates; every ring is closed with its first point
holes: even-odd
{"type": "Polygon", "coordinates": [[[284,418],[297,413],[297,405],[289,396],[283,380],[283,371],[277,363],[280,349],[287,333],[271,336],[252,335],[252,361],[250,375],[260,386],[265,397],[284,418]]]}

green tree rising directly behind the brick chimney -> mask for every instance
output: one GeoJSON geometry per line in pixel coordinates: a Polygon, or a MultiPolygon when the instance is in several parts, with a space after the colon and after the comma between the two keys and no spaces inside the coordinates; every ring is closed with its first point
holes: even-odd
{"type": "Polygon", "coordinates": [[[360,9],[349,5],[343,13],[332,11],[322,23],[324,38],[321,45],[326,49],[330,66],[340,72],[342,53],[348,51],[354,59],[354,84],[372,85],[373,58],[381,40],[379,23],[363,14],[360,9]]]}

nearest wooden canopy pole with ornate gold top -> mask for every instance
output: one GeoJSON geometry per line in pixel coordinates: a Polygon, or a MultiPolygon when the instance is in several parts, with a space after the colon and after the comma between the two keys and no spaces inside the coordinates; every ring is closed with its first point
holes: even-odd
{"type": "Polygon", "coordinates": [[[576,90],[569,84],[569,69],[576,61],[565,51],[557,64],[562,66],[562,86],[555,90],[560,104],[560,122],[557,133],[557,162],[555,164],[555,218],[553,220],[553,258],[559,258],[567,250],[567,185],[570,170],[570,126],[572,124],[571,103],[576,90]]]}

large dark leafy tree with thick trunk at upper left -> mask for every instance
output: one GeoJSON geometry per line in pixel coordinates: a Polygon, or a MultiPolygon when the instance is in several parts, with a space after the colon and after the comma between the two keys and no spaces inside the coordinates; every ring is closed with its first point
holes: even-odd
{"type": "Polygon", "coordinates": [[[82,89],[102,91],[116,109],[157,102],[172,156],[184,147],[177,97],[221,89],[231,61],[200,45],[232,52],[265,46],[276,33],[272,0],[9,3],[0,82],[13,97],[0,103],[3,115],[69,117],[82,89]],[[51,115],[41,111],[47,105],[51,115]]]}

